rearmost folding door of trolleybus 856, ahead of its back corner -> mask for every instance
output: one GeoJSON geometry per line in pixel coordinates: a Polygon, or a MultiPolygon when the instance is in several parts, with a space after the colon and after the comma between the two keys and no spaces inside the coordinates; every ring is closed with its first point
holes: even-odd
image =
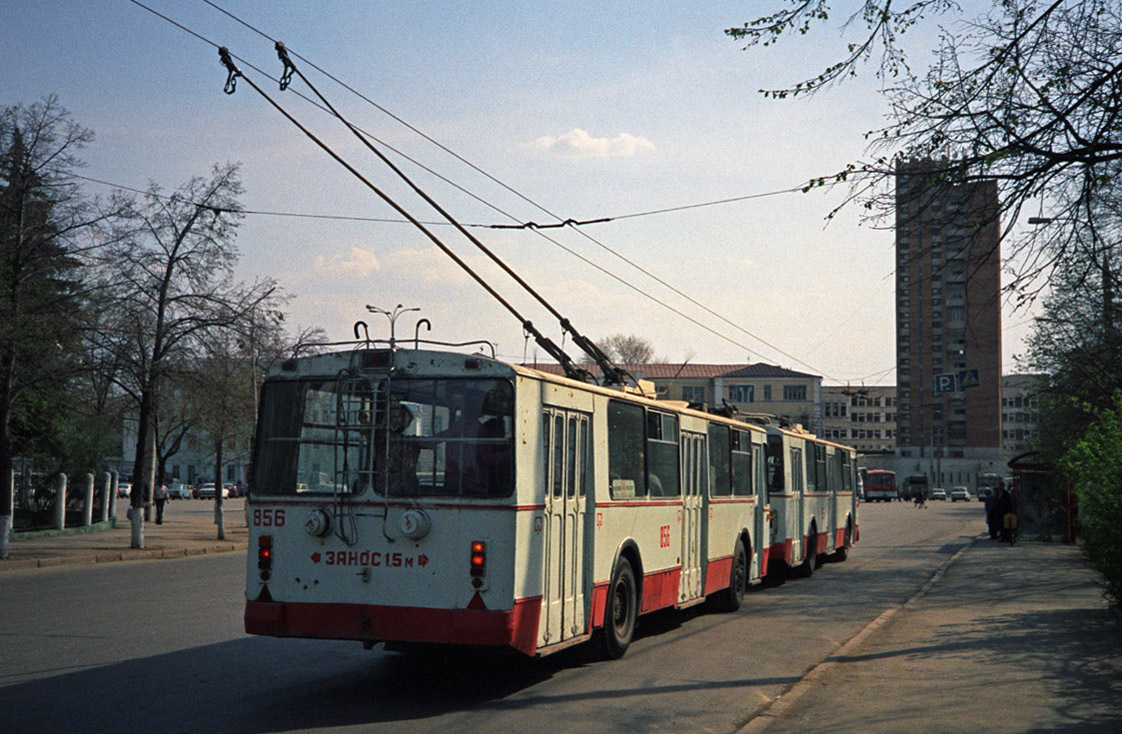
{"type": "Polygon", "coordinates": [[[545,512],[539,645],[585,632],[583,527],[588,495],[589,420],[583,413],[546,409],[542,418],[545,512]]]}

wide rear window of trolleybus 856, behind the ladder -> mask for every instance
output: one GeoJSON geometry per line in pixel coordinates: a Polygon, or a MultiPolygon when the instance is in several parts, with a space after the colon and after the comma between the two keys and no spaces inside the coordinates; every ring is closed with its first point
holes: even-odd
{"type": "Polygon", "coordinates": [[[509,496],[513,405],[497,379],[270,380],[252,492],[509,496]]]}

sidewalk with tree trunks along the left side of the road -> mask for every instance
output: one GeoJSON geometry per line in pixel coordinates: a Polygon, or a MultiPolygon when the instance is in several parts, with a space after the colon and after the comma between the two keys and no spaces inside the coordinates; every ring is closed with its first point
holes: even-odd
{"type": "MultiPolygon", "coordinates": [[[[127,499],[121,502],[128,502],[127,499]]],[[[164,523],[144,525],[142,549],[129,548],[132,531],[125,513],[127,505],[117,507],[117,526],[109,529],[73,529],[47,536],[21,536],[13,532],[8,544],[7,560],[0,560],[0,572],[36,568],[54,568],[118,561],[182,558],[202,553],[242,551],[249,544],[245,499],[222,503],[226,540],[218,540],[214,503],[209,499],[169,501],[164,523]]],[[[155,517],[155,510],[151,514],[155,517]]]]}

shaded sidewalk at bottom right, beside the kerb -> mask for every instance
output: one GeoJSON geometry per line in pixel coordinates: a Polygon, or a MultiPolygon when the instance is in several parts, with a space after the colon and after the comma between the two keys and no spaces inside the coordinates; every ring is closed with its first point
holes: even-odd
{"type": "Polygon", "coordinates": [[[1098,580],[1077,545],[978,539],[741,732],[1120,732],[1098,580]]]}

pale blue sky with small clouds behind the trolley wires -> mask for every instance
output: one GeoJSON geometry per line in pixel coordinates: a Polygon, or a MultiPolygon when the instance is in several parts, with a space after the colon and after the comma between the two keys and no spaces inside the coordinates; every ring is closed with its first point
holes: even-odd
{"type": "MultiPolygon", "coordinates": [[[[762,6],[142,2],[190,33],[130,0],[0,0],[0,105],[57,95],[96,136],[82,156],[90,178],[171,192],[237,162],[251,212],[377,220],[245,218],[237,275],[274,278],[292,296],[294,327],[346,340],[364,320],[373,337],[387,338],[389,320],[367,305],[401,304],[420,311],[397,320],[398,338],[412,338],[423,318],[432,324],[423,337],[484,339],[503,359],[548,360],[516,316],[246,80],[224,94],[215,45],[229,47],[247,79],[373,184],[435,222],[338,120],[297,95],[312,95],[300,80],[280,92],[261,73],[280,73],[266,36],[361,93],[366,99],[294,59],[376,145],[423,164],[387,150],[594,340],[634,334],[664,361],[765,361],[826,384],[895,382],[891,231],[863,223],[853,207],[827,223],[844,190],[776,193],[865,155],[864,134],[882,125],[886,109],[874,70],[809,100],[758,93],[819,73],[853,30],[827,27],[744,51],[723,31],[762,6]],[[730,199],[738,201],[696,207],[730,199]],[[613,221],[579,231],[488,227],[601,218],[613,221]]],[[[918,34],[914,43],[926,40],[918,34]]],[[[925,54],[919,48],[918,63],[925,54]]],[[[470,241],[445,224],[430,229],[578,356],[557,319],[470,241]]],[[[1003,320],[1009,373],[1030,318],[1006,308],[1003,320]]]]}

